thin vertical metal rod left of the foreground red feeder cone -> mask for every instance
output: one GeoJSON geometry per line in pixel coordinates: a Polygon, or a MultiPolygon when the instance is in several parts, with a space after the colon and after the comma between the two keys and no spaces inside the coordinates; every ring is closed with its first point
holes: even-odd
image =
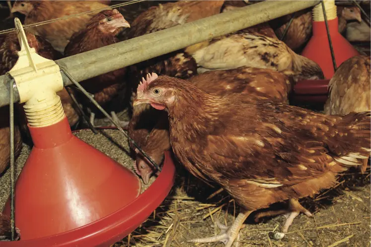
{"type": "Polygon", "coordinates": [[[10,132],[10,229],[11,241],[15,239],[14,219],[14,190],[15,190],[15,169],[14,169],[14,79],[9,81],[9,132],[10,132]]]}

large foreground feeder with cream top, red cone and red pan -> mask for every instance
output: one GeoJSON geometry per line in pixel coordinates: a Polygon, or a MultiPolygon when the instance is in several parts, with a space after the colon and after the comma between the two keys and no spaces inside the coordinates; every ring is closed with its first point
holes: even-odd
{"type": "Polygon", "coordinates": [[[175,174],[171,158],[165,155],[164,172],[139,196],[138,176],[72,134],[56,94],[63,89],[60,67],[37,55],[19,19],[14,22],[21,51],[8,74],[19,102],[25,102],[34,146],[3,210],[15,218],[21,240],[1,246],[113,244],[142,224],[166,197],[175,174]]]}

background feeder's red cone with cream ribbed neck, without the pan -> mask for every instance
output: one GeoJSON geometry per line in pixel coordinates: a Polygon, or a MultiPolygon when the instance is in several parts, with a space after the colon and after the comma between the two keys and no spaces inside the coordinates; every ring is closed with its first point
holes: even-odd
{"type": "MultiPolygon", "coordinates": [[[[358,56],[359,53],[338,31],[338,18],[336,14],[335,1],[326,0],[324,1],[324,5],[336,66],[339,66],[345,60],[358,56]]],[[[312,24],[313,36],[302,51],[301,55],[317,62],[321,67],[325,78],[331,79],[335,71],[321,3],[313,8],[312,24]]]]}

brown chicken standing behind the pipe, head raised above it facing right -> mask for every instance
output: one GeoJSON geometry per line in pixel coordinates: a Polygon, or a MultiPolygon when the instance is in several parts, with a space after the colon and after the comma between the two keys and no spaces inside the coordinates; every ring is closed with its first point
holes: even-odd
{"type": "MultiPolygon", "coordinates": [[[[87,23],[85,29],[74,33],[70,42],[66,46],[65,56],[73,56],[79,53],[87,52],[100,47],[108,46],[119,42],[117,35],[122,28],[130,27],[129,22],[125,20],[122,14],[117,10],[103,10],[94,15],[87,23]]],[[[125,91],[124,76],[126,68],[98,75],[94,78],[81,82],[84,89],[94,95],[94,99],[104,108],[110,108],[109,104],[119,92],[125,91]]],[[[81,94],[79,94],[81,95],[81,94]]],[[[95,114],[97,108],[83,95],[80,102],[84,102],[90,112],[90,122],[94,126],[95,114]]],[[[79,97],[77,97],[79,98],[79,97]]],[[[115,111],[111,111],[112,117],[118,123],[121,123],[115,111]]],[[[121,123],[127,125],[127,123],[121,123]]]]}

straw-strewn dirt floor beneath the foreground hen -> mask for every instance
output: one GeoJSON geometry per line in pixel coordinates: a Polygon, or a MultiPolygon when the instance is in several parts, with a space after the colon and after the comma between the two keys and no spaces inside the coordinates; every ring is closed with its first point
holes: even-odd
{"type": "MultiPolygon", "coordinates": [[[[224,246],[220,242],[193,244],[187,243],[187,240],[219,233],[219,229],[214,227],[214,219],[230,224],[238,214],[237,205],[224,191],[205,199],[218,188],[205,185],[182,168],[177,171],[176,185],[161,206],[142,227],[114,247],[224,246]]],[[[339,182],[334,188],[324,190],[314,198],[301,200],[314,218],[300,214],[281,241],[272,240],[269,233],[280,231],[286,219],[284,216],[255,223],[254,215],[250,215],[245,222],[246,227],[241,230],[239,246],[369,247],[370,169],[364,175],[357,171],[344,174],[339,182]]]]}

